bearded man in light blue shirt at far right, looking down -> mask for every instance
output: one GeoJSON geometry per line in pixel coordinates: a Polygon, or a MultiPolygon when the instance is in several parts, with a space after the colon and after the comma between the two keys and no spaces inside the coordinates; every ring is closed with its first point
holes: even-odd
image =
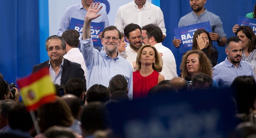
{"type": "Polygon", "coordinates": [[[252,76],[254,73],[248,62],[241,61],[242,58],[242,41],[238,37],[230,37],[226,41],[225,61],[213,67],[213,79],[218,83],[220,88],[230,87],[234,79],[238,76],[252,76]]]}

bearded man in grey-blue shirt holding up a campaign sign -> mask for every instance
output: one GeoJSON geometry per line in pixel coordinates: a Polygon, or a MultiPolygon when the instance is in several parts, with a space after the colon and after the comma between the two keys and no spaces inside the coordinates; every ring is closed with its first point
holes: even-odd
{"type": "MultiPolygon", "coordinates": [[[[216,41],[220,46],[225,46],[226,34],[224,33],[220,17],[212,12],[208,12],[204,8],[206,0],[190,0],[189,3],[193,11],[180,18],[178,27],[210,21],[212,27],[210,37],[212,41],[216,41]]],[[[178,48],[181,44],[181,40],[174,38],[172,43],[178,48]]]]}

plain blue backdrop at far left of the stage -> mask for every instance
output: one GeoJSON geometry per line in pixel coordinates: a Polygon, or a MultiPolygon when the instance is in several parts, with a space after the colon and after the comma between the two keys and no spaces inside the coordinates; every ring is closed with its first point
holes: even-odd
{"type": "Polygon", "coordinates": [[[39,63],[38,0],[0,0],[0,73],[9,83],[39,63]]]}

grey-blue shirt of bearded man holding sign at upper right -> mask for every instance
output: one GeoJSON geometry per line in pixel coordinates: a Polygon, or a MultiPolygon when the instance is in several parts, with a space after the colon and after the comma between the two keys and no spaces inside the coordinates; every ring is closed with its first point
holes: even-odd
{"type": "Polygon", "coordinates": [[[185,16],[180,18],[178,27],[189,26],[192,24],[198,24],[207,21],[210,21],[213,33],[217,33],[218,35],[220,35],[220,37],[226,37],[220,17],[213,14],[212,12],[208,12],[206,9],[202,14],[200,14],[199,17],[197,16],[197,14],[194,14],[194,12],[186,14],[185,16]]]}

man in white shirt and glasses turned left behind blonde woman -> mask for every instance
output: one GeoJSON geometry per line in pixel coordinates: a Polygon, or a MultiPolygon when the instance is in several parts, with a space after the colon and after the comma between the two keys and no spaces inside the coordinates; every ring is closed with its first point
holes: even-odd
{"type": "Polygon", "coordinates": [[[162,45],[162,31],[154,25],[148,24],[142,27],[142,41],[144,44],[150,44],[156,48],[156,50],[162,55],[163,69],[160,72],[165,79],[170,80],[174,77],[178,77],[176,62],[174,55],[170,49],[162,45]]]}

